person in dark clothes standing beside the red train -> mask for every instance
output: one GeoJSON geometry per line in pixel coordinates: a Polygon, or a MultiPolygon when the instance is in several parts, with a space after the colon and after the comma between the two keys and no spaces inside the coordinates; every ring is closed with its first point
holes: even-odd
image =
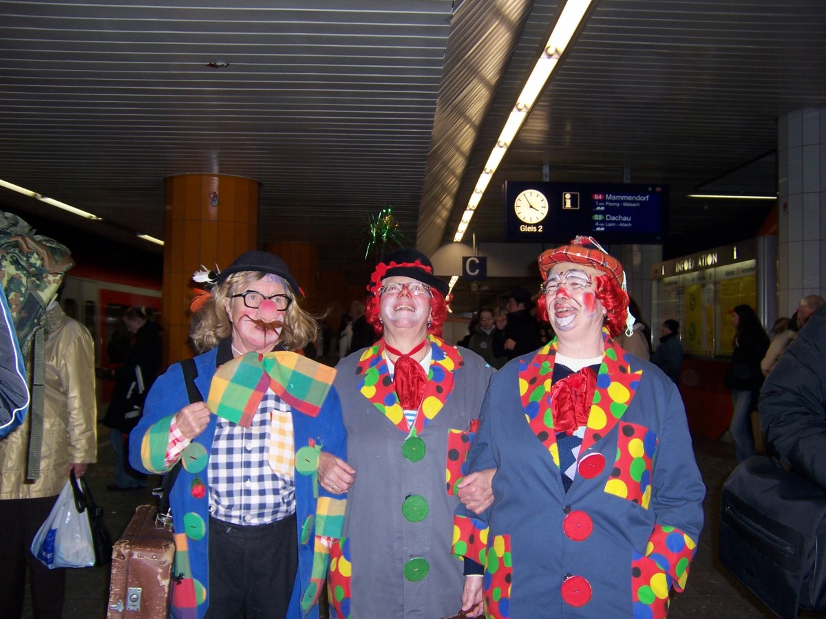
{"type": "Polygon", "coordinates": [[[126,352],[126,360],[113,373],[115,388],[109,401],[103,425],[110,428],[109,442],[115,451],[115,483],[112,491],[136,490],[146,487],[146,477],[131,468],[127,453],[129,432],[138,423],[146,393],[160,370],[164,343],[154,309],[131,307],[123,314],[123,324],[134,341],[126,352]]]}

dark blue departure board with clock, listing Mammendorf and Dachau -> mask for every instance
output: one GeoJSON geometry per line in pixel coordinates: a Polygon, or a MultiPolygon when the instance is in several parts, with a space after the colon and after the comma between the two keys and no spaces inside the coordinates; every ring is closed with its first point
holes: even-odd
{"type": "Polygon", "coordinates": [[[506,182],[505,240],[663,243],[668,187],[577,182],[506,182]]]}

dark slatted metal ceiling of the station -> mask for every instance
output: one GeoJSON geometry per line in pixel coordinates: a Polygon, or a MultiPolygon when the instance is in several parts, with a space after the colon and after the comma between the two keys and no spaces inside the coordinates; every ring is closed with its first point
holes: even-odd
{"type": "MultiPolygon", "coordinates": [[[[259,243],[316,243],[362,282],[382,208],[429,255],[453,239],[562,7],[193,4],[0,0],[0,179],[104,221],[3,188],[0,205],[159,252],[133,233],[163,239],[165,177],[254,178],[259,243]]],[[[465,241],[501,241],[502,183],[544,174],[667,184],[666,254],[753,235],[766,203],[686,194],[774,193],[776,119],[824,105],[823,0],[595,0],[465,241]]]]}

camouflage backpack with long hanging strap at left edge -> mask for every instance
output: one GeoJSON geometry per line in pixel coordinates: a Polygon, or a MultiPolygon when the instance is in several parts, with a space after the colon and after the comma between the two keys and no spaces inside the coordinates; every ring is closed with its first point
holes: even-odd
{"type": "MultiPolygon", "coordinates": [[[[0,210],[0,285],[5,293],[31,390],[31,434],[26,480],[40,477],[43,439],[45,310],[57,297],[64,274],[74,267],[69,249],[35,234],[26,221],[0,210]]],[[[25,410],[8,424],[22,423],[25,410]]]]}

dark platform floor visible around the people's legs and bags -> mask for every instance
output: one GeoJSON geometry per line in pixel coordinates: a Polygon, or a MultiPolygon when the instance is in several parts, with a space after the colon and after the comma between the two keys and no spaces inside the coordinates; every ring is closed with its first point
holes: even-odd
{"type": "MultiPolygon", "coordinates": [[[[720,565],[717,558],[720,492],[723,482],[735,465],[733,447],[728,443],[703,437],[695,437],[694,447],[697,462],[708,489],[705,498],[705,530],[700,537],[700,547],[691,566],[691,575],[686,590],[673,598],[669,617],[672,619],[774,617],[759,599],[720,565]]],[[[106,489],[107,484],[112,483],[113,466],[108,433],[105,433],[100,441],[98,460],[97,465],[89,468],[87,475],[97,503],[107,510],[107,526],[112,536],[116,538],[135,512],[135,506],[153,503],[154,498],[148,490],[111,492],[106,489]]],[[[151,481],[153,480],[150,479],[150,486],[151,481]]],[[[157,481],[157,478],[154,478],[154,481],[157,481]]],[[[108,568],[69,569],[68,572],[64,619],[106,617],[108,568]]],[[[815,616],[814,613],[801,612],[800,614],[800,617],[815,616]]],[[[24,617],[32,617],[31,606],[28,603],[24,617]]]]}

